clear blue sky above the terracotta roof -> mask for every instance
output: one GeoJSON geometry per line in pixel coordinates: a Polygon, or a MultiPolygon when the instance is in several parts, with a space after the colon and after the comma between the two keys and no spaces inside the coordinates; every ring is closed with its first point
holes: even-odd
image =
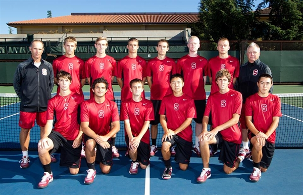
{"type": "MultiPolygon", "coordinates": [[[[198,12],[199,0],[0,0],[0,34],[9,22],[68,16],[71,13],[198,12]]],[[[262,0],[256,0],[258,5],[262,0]]],[[[13,34],[17,30],[13,28],[13,34]]]]}

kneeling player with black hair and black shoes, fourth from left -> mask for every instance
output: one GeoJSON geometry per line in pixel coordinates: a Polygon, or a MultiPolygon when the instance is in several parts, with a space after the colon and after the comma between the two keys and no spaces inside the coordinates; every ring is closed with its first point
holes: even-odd
{"type": "Polygon", "coordinates": [[[196,117],[194,101],[184,94],[184,78],[181,74],[174,74],[170,79],[173,93],[163,98],[160,107],[160,123],[164,130],[162,137],[162,156],[165,165],[163,179],[172,176],[170,148],[176,143],[175,161],[181,170],[188,167],[192,149],[191,120],[196,117]]]}

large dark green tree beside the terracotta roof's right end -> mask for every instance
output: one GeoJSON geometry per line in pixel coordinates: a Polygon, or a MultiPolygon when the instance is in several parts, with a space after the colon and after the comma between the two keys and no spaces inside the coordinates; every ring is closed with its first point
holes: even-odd
{"type": "Polygon", "coordinates": [[[255,25],[254,0],[201,0],[193,31],[204,40],[249,39],[255,25]]]}

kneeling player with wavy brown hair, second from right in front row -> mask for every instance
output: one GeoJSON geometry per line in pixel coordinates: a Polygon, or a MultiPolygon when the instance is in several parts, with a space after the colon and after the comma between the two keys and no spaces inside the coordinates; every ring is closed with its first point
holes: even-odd
{"type": "Polygon", "coordinates": [[[230,174],[239,167],[241,159],[237,157],[241,144],[241,130],[238,126],[242,108],[240,92],[228,88],[231,75],[223,69],[216,74],[219,91],[211,94],[207,101],[202,121],[202,133],[199,135],[199,145],[203,170],[197,178],[198,183],[204,183],[211,177],[210,144],[217,144],[221,148],[219,160],[223,161],[223,170],[230,174]],[[212,116],[211,131],[207,131],[209,116],[212,116]]]}

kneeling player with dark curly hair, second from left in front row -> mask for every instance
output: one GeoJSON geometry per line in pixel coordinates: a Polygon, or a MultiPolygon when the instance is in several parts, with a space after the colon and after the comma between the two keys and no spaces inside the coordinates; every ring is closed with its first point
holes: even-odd
{"type": "Polygon", "coordinates": [[[110,173],[113,165],[111,138],[120,130],[120,121],[117,104],[105,98],[108,87],[104,77],[95,79],[91,86],[94,97],[81,105],[81,127],[88,166],[85,184],[91,184],[96,176],[95,162],[99,163],[104,174],[110,173]]]}

